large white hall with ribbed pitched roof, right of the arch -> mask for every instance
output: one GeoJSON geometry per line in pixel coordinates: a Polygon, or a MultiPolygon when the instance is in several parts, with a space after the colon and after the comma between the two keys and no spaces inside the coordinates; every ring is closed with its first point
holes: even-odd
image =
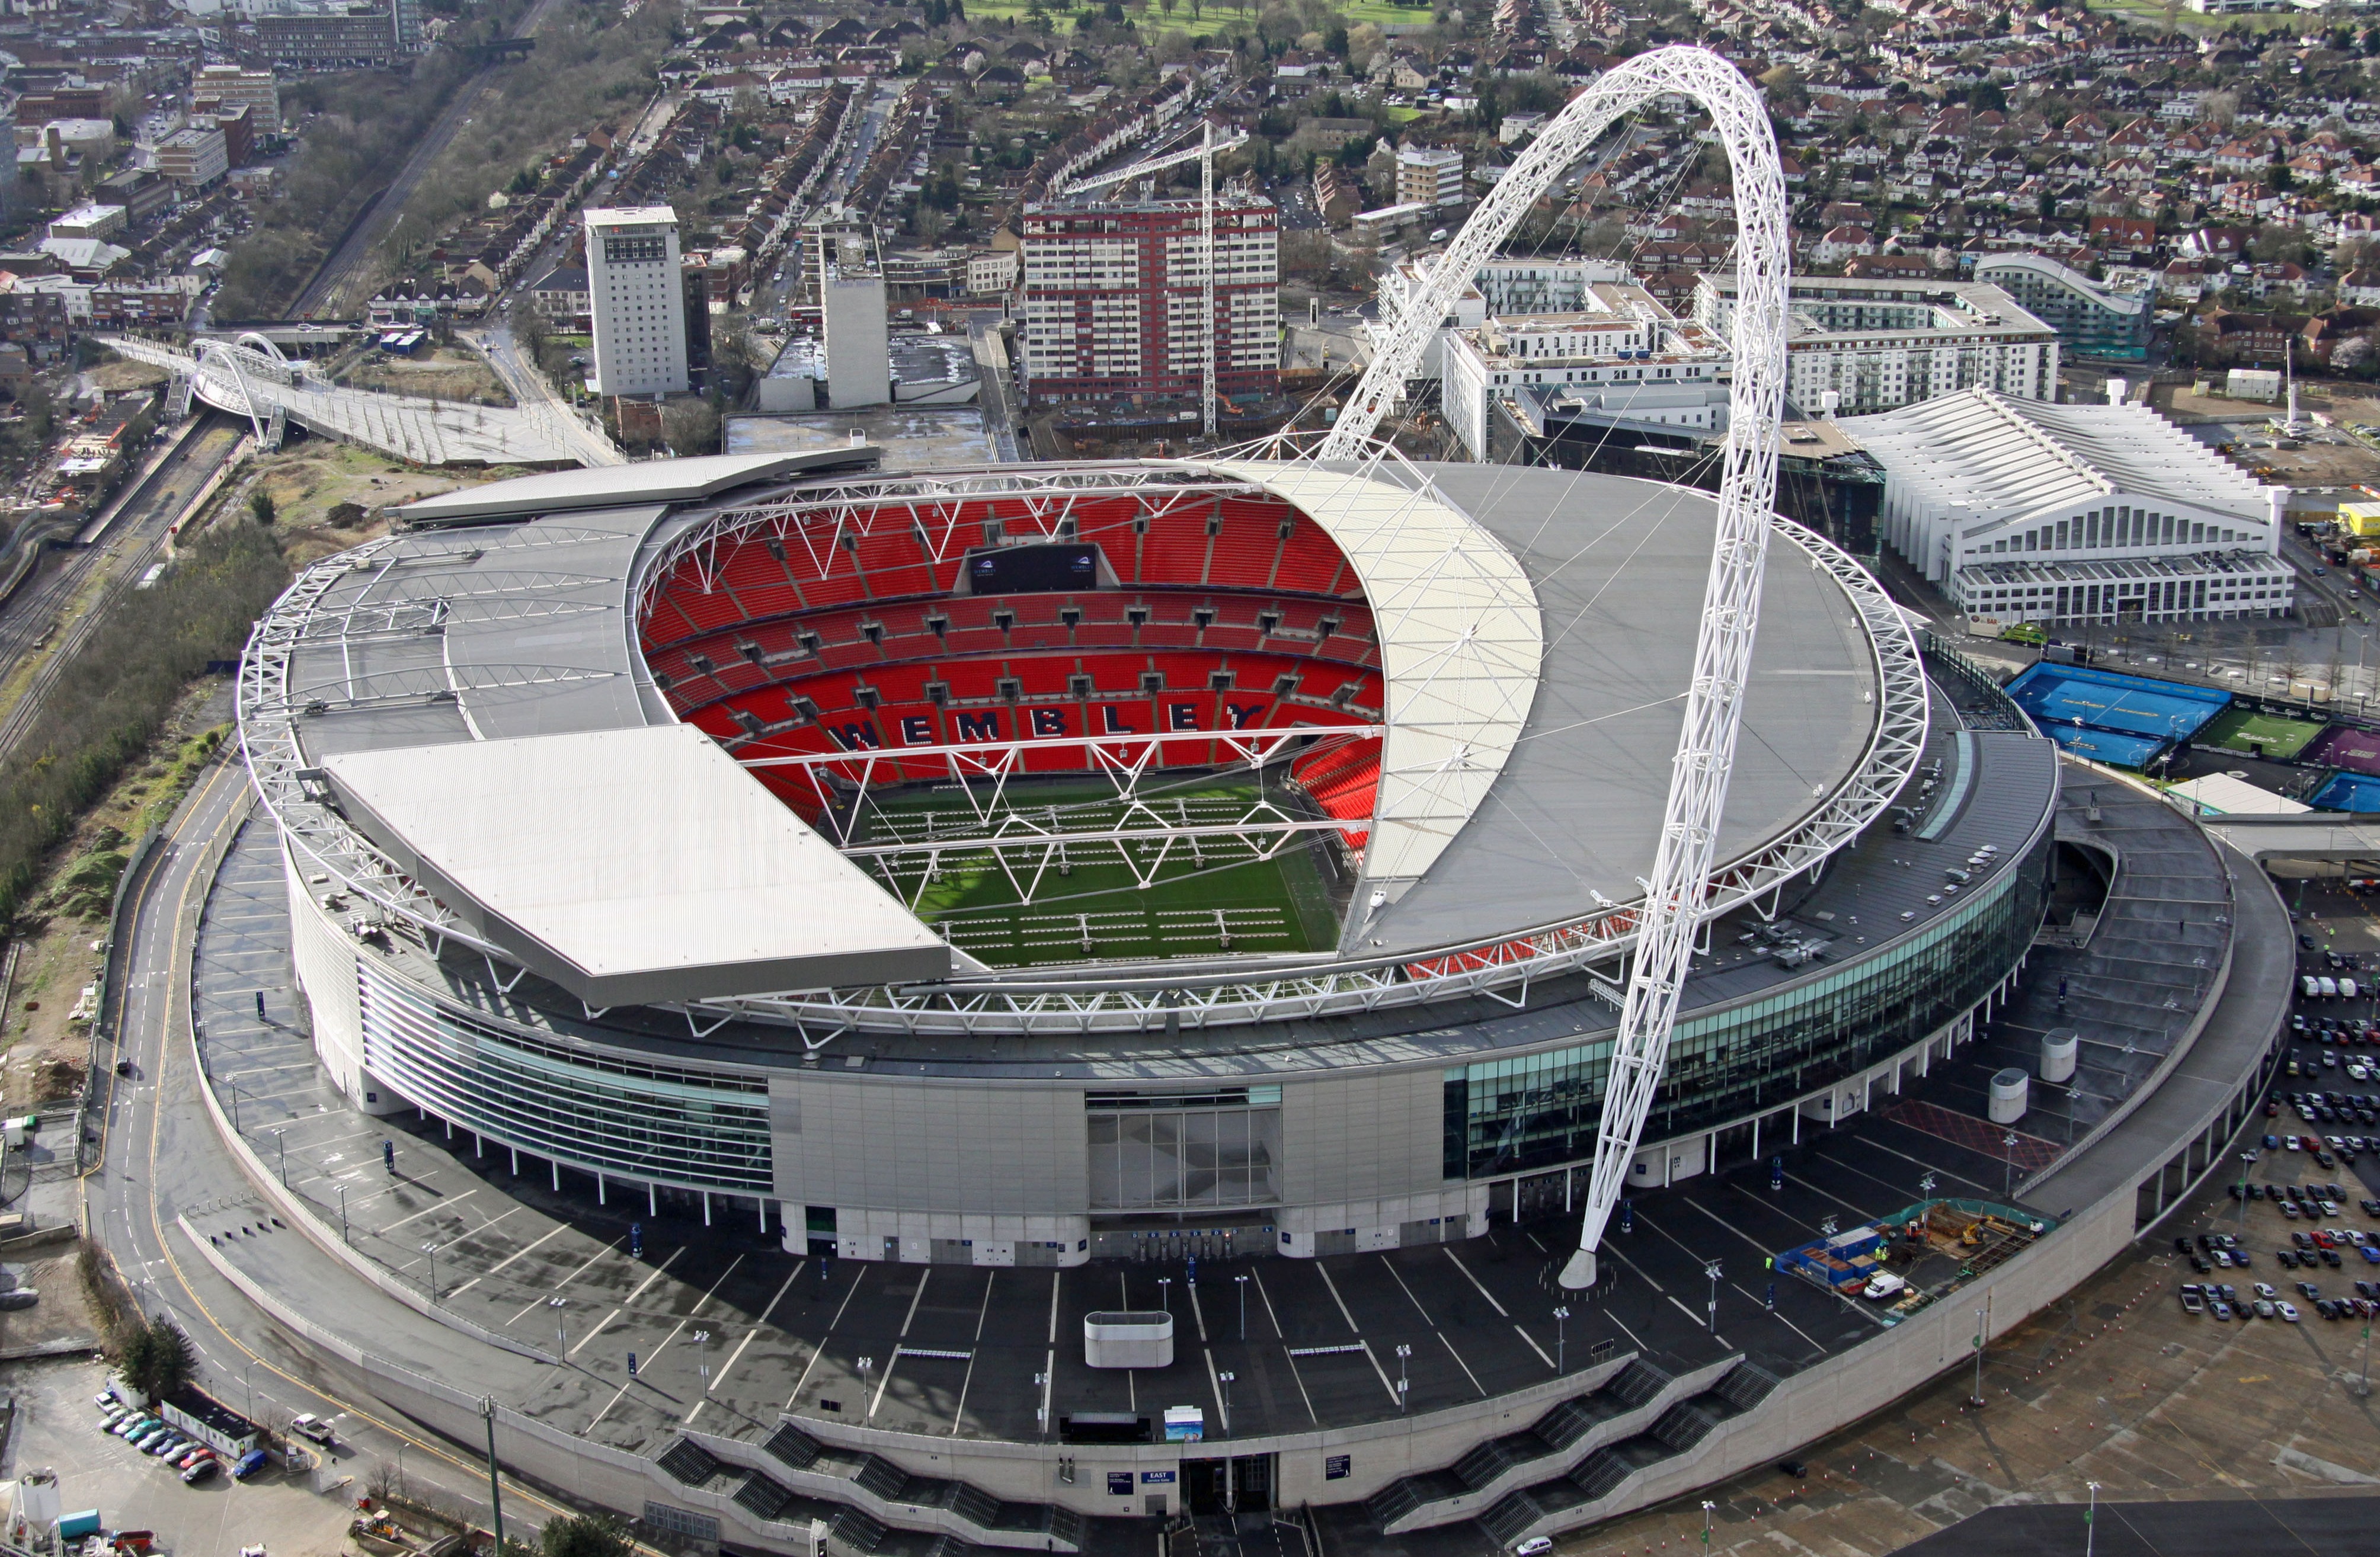
{"type": "Polygon", "coordinates": [[[1842,431],[1885,467],[1885,543],[1968,617],[2280,617],[2287,488],[2144,405],[1968,390],[1842,431]]]}

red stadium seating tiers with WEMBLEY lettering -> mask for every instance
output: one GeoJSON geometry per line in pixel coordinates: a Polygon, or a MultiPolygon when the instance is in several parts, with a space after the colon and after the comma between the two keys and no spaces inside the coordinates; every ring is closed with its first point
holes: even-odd
{"type": "MultiPolygon", "coordinates": [[[[1180,493],[897,505],[759,526],[721,540],[700,569],[681,559],[643,621],[671,705],[740,757],[873,750],[888,783],[947,778],[942,759],[897,762],[912,745],[1150,733],[1176,767],[1230,762],[1216,731],[1371,724],[1383,700],[1371,631],[1354,569],[1311,519],[1273,498],[1180,493]],[[1104,550],[1114,588],[954,593],[971,548],[1069,533],[1104,550]]],[[[1316,752],[1297,781],[1328,817],[1364,824],[1378,748],[1316,752]]],[[[1078,745],[1026,750],[1028,771],[1088,767],[1078,745]]],[[[804,769],[754,774],[821,817],[823,790],[804,769]]],[[[1361,826],[1345,836],[1366,838],[1361,826]]]]}

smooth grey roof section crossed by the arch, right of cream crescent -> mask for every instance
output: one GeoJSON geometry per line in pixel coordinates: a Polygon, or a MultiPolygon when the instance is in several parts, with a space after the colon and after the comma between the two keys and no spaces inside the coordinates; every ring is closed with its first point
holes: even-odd
{"type": "MultiPolygon", "coordinates": [[[[1640,898],[1685,721],[1718,505],[1709,493],[1509,464],[1423,467],[1518,559],[1545,659],[1521,740],[1468,826],[1366,928],[1445,945],[1640,898]]],[[[1875,655],[1842,588],[1771,536],[1745,731],[1718,857],[1792,828],[1859,762],[1875,655]]]]}

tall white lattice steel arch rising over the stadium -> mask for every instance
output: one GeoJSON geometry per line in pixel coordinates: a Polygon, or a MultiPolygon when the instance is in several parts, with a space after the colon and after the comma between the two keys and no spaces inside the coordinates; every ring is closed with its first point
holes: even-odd
{"type": "Polygon", "coordinates": [[[1621,1007],[1604,1119],[1595,1138],[1595,1171],[1578,1226],[1578,1252],[1561,1286],[1595,1286],[1595,1248],[1618,1202],[1635,1157],[1652,1093],[1668,1059],[1678,995],[1695,957],[1695,931],[1711,898],[1711,855],[1735,767],[1742,690],[1752,669],[1752,638],[1761,609],[1761,564],[1768,552],[1771,505],[1778,481],[1778,421],[1785,409],[1785,176],[1778,169],[1768,110],[1742,71],[1699,48],[1661,48],[1609,71],[1571,102],[1521,155],[1495,193],[1457,233],[1418,302],[1380,345],[1357,386],[1347,414],[1316,450],[1319,459],[1361,459],[1373,429],[1471,283],[1530,205],[1578,162],[1611,121],[1661,95],[1692,98],[1709,110],[1728,169],[1735,174],[1735,269],[1742,305],[1728,350],[1735,386],[1728,395],[1728,452],[1718,483],[1718,536],[1702,595],[1695,679],[1685,698],[1685,729],[1671,759],[1668,809],[1645,893],[1635,967],[1621,1007]]]}

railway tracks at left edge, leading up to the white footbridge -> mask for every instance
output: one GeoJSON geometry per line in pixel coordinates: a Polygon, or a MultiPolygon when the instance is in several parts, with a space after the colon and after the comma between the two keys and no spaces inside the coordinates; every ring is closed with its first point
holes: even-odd
{"type": "Polygon", "coordinates": [[[164,545],[167,531],[181,514],[183,500],[238,448],[243,424],[236,417],[207,412],[207,421],[209,426],[190,433],[174,455],[133,488],[107,540],[90,548],[36,552],[31,571],[0,602],[0,683],[5,683],[29,655],[38,652],[57,633],[60,614],[90,583],[93,571],[107,574],[100,598],[50,645],[48,657],[33,671],[31,681],[26,681],[17,702],[0,714],[0,759],[17,748],[33,726],[33,719],[40,717],[50,686],[57,683],[74,650],[90,638],[100,617],[148,571],[164,545]]]}

